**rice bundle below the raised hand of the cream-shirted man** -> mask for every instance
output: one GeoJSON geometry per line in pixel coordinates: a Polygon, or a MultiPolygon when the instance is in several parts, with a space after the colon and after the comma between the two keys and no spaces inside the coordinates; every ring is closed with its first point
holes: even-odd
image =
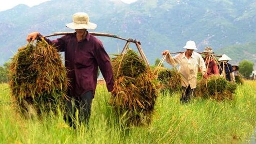
{"type": "Polygon", "coordinates": [[[160,92],[169,94],[181,91],[181,75],[175,69],[158,67],[155,69],[157,80],[160,83],[160,92]]]}

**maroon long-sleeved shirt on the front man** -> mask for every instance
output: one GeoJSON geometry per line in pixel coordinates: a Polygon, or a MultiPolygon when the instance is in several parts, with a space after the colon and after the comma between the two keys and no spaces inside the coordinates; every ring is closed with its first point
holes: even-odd
{"type": "Polygon", "coordinates": [[[108,91],[113,90],[114,79],[109,55],[102,42],[87,33],[84,40],[77,41],[76,33],[65,35],[56,40],[45,39],[54,44],[59,51],[65,52],[65,66],[70,80],[69,96],[79,97],[92,90],[95,93],[98,67],[106,81],[108,91]]]}

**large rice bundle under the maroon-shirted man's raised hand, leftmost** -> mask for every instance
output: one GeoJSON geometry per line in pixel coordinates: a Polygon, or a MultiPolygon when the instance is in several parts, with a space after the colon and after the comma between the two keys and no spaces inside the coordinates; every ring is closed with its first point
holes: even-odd
{"type": "Polygon", "coordinates": [[[22,47],[10,66],[12,96],[23,114],[62,108],[69,82],[61,55],[45,40],[22,47]]]}

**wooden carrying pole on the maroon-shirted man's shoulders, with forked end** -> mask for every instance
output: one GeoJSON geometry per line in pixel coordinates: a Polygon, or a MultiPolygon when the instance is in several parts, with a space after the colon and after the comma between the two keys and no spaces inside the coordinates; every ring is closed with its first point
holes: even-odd
{"type": "MultiPolygon", "coordinates": [[[[74,32],[55,32],[51,35],[47,35],[47,36],[43,36],[43,37],[50,37],[50,36],[58,36],[58,35],[69,35],[69,34],[72,34],[74,32]]],[[[144,54],[142,48],[141,48],[141,42],[140,41],[137,41],[136,39],[133,40],[133,39],[124,39],[123,37],[119,37],[117,35],[113,35],[113,34],[110,34],[110,33],[99,33],[99,32],[89,32],[91,35],[93,36],[106,36],[106,37],[113,37],[113,38],[116,38],[116,39],[120,39],[120,40],[125,40],[126,41],[126,44],[124,45],[124,48],[121,52],[121,54],[123,54],[126,50],[125,49],[128,49],[129,48],[129,45],[130,43],[134,43],[141,55],[141,58],[144,60],[144,62],[147,64],[147,66],[149,67],[149,61],[147,60],[146,58],[146,55],[144,54]]]]}

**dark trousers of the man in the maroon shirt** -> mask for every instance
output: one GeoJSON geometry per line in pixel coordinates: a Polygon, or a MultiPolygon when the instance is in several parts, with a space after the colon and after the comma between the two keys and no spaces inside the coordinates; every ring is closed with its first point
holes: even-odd
{"type": "Polygon", "coordinates": [[[66,100],[64,120],[75,129],[77,127],[76,124],[85,123],[88,125],[91,116],[92,99],[92,91],[88,91],[80,97],[69,97],[68,100],[66,100]],[[76,112],[78,112],[78,120],[76,112]]]}

